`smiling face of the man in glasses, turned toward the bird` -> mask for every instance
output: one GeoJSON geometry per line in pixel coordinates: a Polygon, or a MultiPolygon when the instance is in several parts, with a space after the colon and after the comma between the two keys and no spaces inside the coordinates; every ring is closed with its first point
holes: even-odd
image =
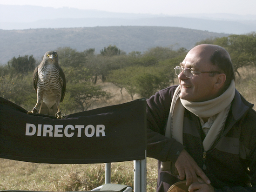
{"type": "MultiPolygon", "coordinates": [[[[190,68],[192,71],[209,72],[216,71],[209,60],[211,50],[203,47],[195,47],[185,57],[181,63],[182,68],[190,68]]],[[[216,98],[219,90],[215,89],[216,75],[210,73],[193,73],[191,78],[186,77],[183,72],[178,75],[181,85],[180,98],[193,102],[202,102],[216,98]]]]}

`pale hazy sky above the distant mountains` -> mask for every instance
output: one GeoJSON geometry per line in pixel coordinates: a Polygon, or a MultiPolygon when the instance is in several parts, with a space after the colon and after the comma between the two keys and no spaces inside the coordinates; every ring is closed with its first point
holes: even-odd
{"type": "Polygon", "coordinates": [[[0,0],[4,5],[74,7],[117,13],[234,13],[256,14],[256,0],[0,0]]]}

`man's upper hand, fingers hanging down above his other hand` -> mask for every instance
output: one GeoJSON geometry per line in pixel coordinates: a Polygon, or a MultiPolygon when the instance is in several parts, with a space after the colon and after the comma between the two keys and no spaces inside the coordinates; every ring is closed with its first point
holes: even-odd
{"type": "Polygon", "coordinates": [[[182,150],[181,154],[176,160],[175,167],[179,172],[179,178],[181,180],[185,179],[186,177],[186,185],[198,182],[197,176],[201,177],[206,184],[210,184],[208,177],[185,149],[182,150]]]}

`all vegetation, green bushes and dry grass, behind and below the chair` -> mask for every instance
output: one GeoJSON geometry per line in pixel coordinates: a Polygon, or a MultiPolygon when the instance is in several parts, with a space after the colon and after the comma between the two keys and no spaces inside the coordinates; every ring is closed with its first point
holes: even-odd
{"type": "MultiPolygon", "coordinates": [[[[236,69],[236,88],[251,103],[256,103],[256,34],[230,35],[207,39],[197,44],[216,44],[226,48],[236,69]]],[[[94,48],[78,52],[70,47],[57,50],[67,79],[67,93],[61,104],[65,113],[148,98],[157,90],[177,83],[173,68],[187,50],[155,47],[147,52],[124,53],[107,46],[100,54],[94,48]],[[120,97],[118,100],[117,97],[120,97]]],[[[32,85],[33,56],[12,58],[0,66],[0,96],[33,108],[36,93],[32,85]],[[19,61],[19,62],[18,62],[19,61]],[[22,62],[21,62],[22,61],[22,62]],[[27,67],[24,67],[27,66],[27,67]]],[[[133,164],[115,163],[112,182],[133,185],[133,164]],[[128,171],[129,170],[129,171],[128,171]]],[[[157,179],[155,159],[148,158],[148,192],[154,192],[157,179]]],[[[41,191],[85,191],[104,183],[103,165],[49,165],[0,159],[0,189],[41,191]]]]}

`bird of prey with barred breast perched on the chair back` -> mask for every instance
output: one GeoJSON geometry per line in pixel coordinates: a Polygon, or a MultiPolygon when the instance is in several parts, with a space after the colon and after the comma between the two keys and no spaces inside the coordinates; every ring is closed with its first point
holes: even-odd
{"type": "Polygon", "coordinates": [[[66,92],[65,75],[58,64],[58,54],[55,51],[47,51],[43,60],[34,70],[33,84],[37,93],[37,102],[28,114],[39,113],[55,115],[61,118],[60,102],[63,101],[66,92]]]}

